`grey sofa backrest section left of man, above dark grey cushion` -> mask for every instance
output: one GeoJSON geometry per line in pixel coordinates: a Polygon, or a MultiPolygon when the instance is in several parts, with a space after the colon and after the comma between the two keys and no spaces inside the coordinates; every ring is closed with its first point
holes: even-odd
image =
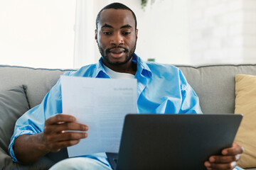
{"type": "Polygon", "coordinates": [[[33,108],[41,103],[44,96],[58,81],[60,75],[69,70],[0,65],[0,91],[12,86],[25,85],[28,103],[33,108]]]}

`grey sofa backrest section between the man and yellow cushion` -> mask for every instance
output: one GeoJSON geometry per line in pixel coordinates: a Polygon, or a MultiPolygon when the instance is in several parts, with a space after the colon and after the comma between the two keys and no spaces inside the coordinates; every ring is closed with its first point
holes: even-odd
{"type": "Polygon", "coordinates": [[[199,96],[203,113],[235,112],[235,75],[256,75],[256,64],[178,66],[199,96]]]}

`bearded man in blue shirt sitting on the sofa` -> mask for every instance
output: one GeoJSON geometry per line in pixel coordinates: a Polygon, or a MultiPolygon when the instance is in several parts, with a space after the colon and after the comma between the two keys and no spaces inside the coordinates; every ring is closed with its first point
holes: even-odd
{"type": "MultiPolygon", "coordinates": [[[[134,54],[137,36],[137,19],[130,8],[119,3],[105,6],[98,13],[95,30],[95,40],[102,55],[100,61],[65,75],[137,79],[139,113],[201,113],[198,97],[178,68],[143,62],[134,54]]],[[[58,113],[62,113],[60,81],[40,105],[17,120],[9,146],[14,162],[36,162],[49,152],[76,145],[87,137],[90,127],[77,123],[71,115],[58,113]]],[[[205,166],[233,169],[242,152],[242,147],[233,144],[223,149],[222,156],[210,157],[205,166]]],[[[110,169],[104,153],[66,159],[53,168],[69,169],[70,166],[110,169]]]]}

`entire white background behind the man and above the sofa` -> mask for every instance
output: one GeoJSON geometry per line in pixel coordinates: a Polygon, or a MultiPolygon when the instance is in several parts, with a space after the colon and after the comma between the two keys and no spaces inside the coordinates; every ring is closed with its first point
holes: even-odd
{"type": "MultiPolygon", "coordinates": [[[[97,62],[95,18],[114,0],[77,1],[0,0],[0,64],[78,68],[97,62]],[[77,1],[90,9],[83,14],[87,17],[84,27],[75,23],[77,1]],[[84,35],[75,35],[78,28],[84,35]],[[79,49],[78,38],[84,43],[79,49]]],[[[119,2],[137,15],[136,53],[144,60],[170,64],[256,62],[256,0],[155,0],[154,4],[149,0],[145,10],[140,0],[119,2]]]]}

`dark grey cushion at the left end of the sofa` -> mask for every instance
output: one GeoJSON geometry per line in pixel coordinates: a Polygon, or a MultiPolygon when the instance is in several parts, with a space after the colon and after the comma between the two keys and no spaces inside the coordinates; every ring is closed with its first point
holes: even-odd
{"type": "Polygon", "coordinates": [[[8,147],[14,125],[28,109],[25,86],[0,91],[0,169],[48,169],[53,164],[46,157],[31,165],[16,164],[11,160],[8,147]]]}

